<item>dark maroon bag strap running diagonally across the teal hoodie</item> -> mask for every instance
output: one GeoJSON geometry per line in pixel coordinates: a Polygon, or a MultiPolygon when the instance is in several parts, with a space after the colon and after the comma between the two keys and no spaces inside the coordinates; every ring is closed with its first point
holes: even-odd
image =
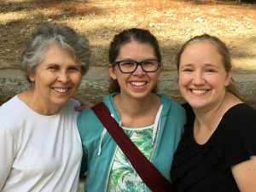
{"type": "MultiPolygon", "coordinates": [[[[117,122],[103,102],[91,108],[96,116],[102,121],[102,125],[108,130],[119,148],[130,160],[143,182],[153,192],[171,192],[172,184],[155,168],[155,166],[142,154],[131,139],[126,136],[125,131],[119,127],[117,122]]],[[[171,165],[170,165],[171,166],[171,165]]]]}

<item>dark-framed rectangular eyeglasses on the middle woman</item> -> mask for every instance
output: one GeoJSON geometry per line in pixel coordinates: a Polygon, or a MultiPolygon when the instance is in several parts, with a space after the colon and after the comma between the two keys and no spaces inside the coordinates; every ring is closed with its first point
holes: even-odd
{"type": "Polygon", "coordinates": [[[138,66],[141,66],[144,72],[152,73],[152,72],[156,72],[160,67],[160,60],[158,59],[148,59],[143,61],[123,60],[123,61],[116,61],[113,64],[119,66],[119,70],[121,73],[134,73],[138,66]]]}

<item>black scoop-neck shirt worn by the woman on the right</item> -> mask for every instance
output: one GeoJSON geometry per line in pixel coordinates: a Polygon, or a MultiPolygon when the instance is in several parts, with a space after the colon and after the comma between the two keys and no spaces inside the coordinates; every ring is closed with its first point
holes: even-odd
{"type": "Polygon", "coordinates": [[[174,154],[175,192],[239,192],[231,166],[256,155],[256,110],[241,103],[230,108],[207,143],[195,142],[195,114],[188,104],[183,137],[174,154]]]}

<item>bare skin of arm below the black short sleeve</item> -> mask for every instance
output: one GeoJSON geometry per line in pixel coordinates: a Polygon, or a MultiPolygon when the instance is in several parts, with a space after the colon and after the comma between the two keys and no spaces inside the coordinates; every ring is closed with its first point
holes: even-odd
{"type": "Polygon", "coordinates": [[[241,192],[255,192],[256,156],[232,166],[231,171],[241,192]]]}

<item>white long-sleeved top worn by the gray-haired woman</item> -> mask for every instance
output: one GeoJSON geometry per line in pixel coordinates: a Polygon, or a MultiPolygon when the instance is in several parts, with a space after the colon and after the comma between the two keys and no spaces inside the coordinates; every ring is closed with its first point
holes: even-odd
{"type": "Polygon", "coordinates": [[[71,192],[79,188],[82,147],[73,99],[44,116],[15,96],[0,107],[0,191],[71,192]]]}

